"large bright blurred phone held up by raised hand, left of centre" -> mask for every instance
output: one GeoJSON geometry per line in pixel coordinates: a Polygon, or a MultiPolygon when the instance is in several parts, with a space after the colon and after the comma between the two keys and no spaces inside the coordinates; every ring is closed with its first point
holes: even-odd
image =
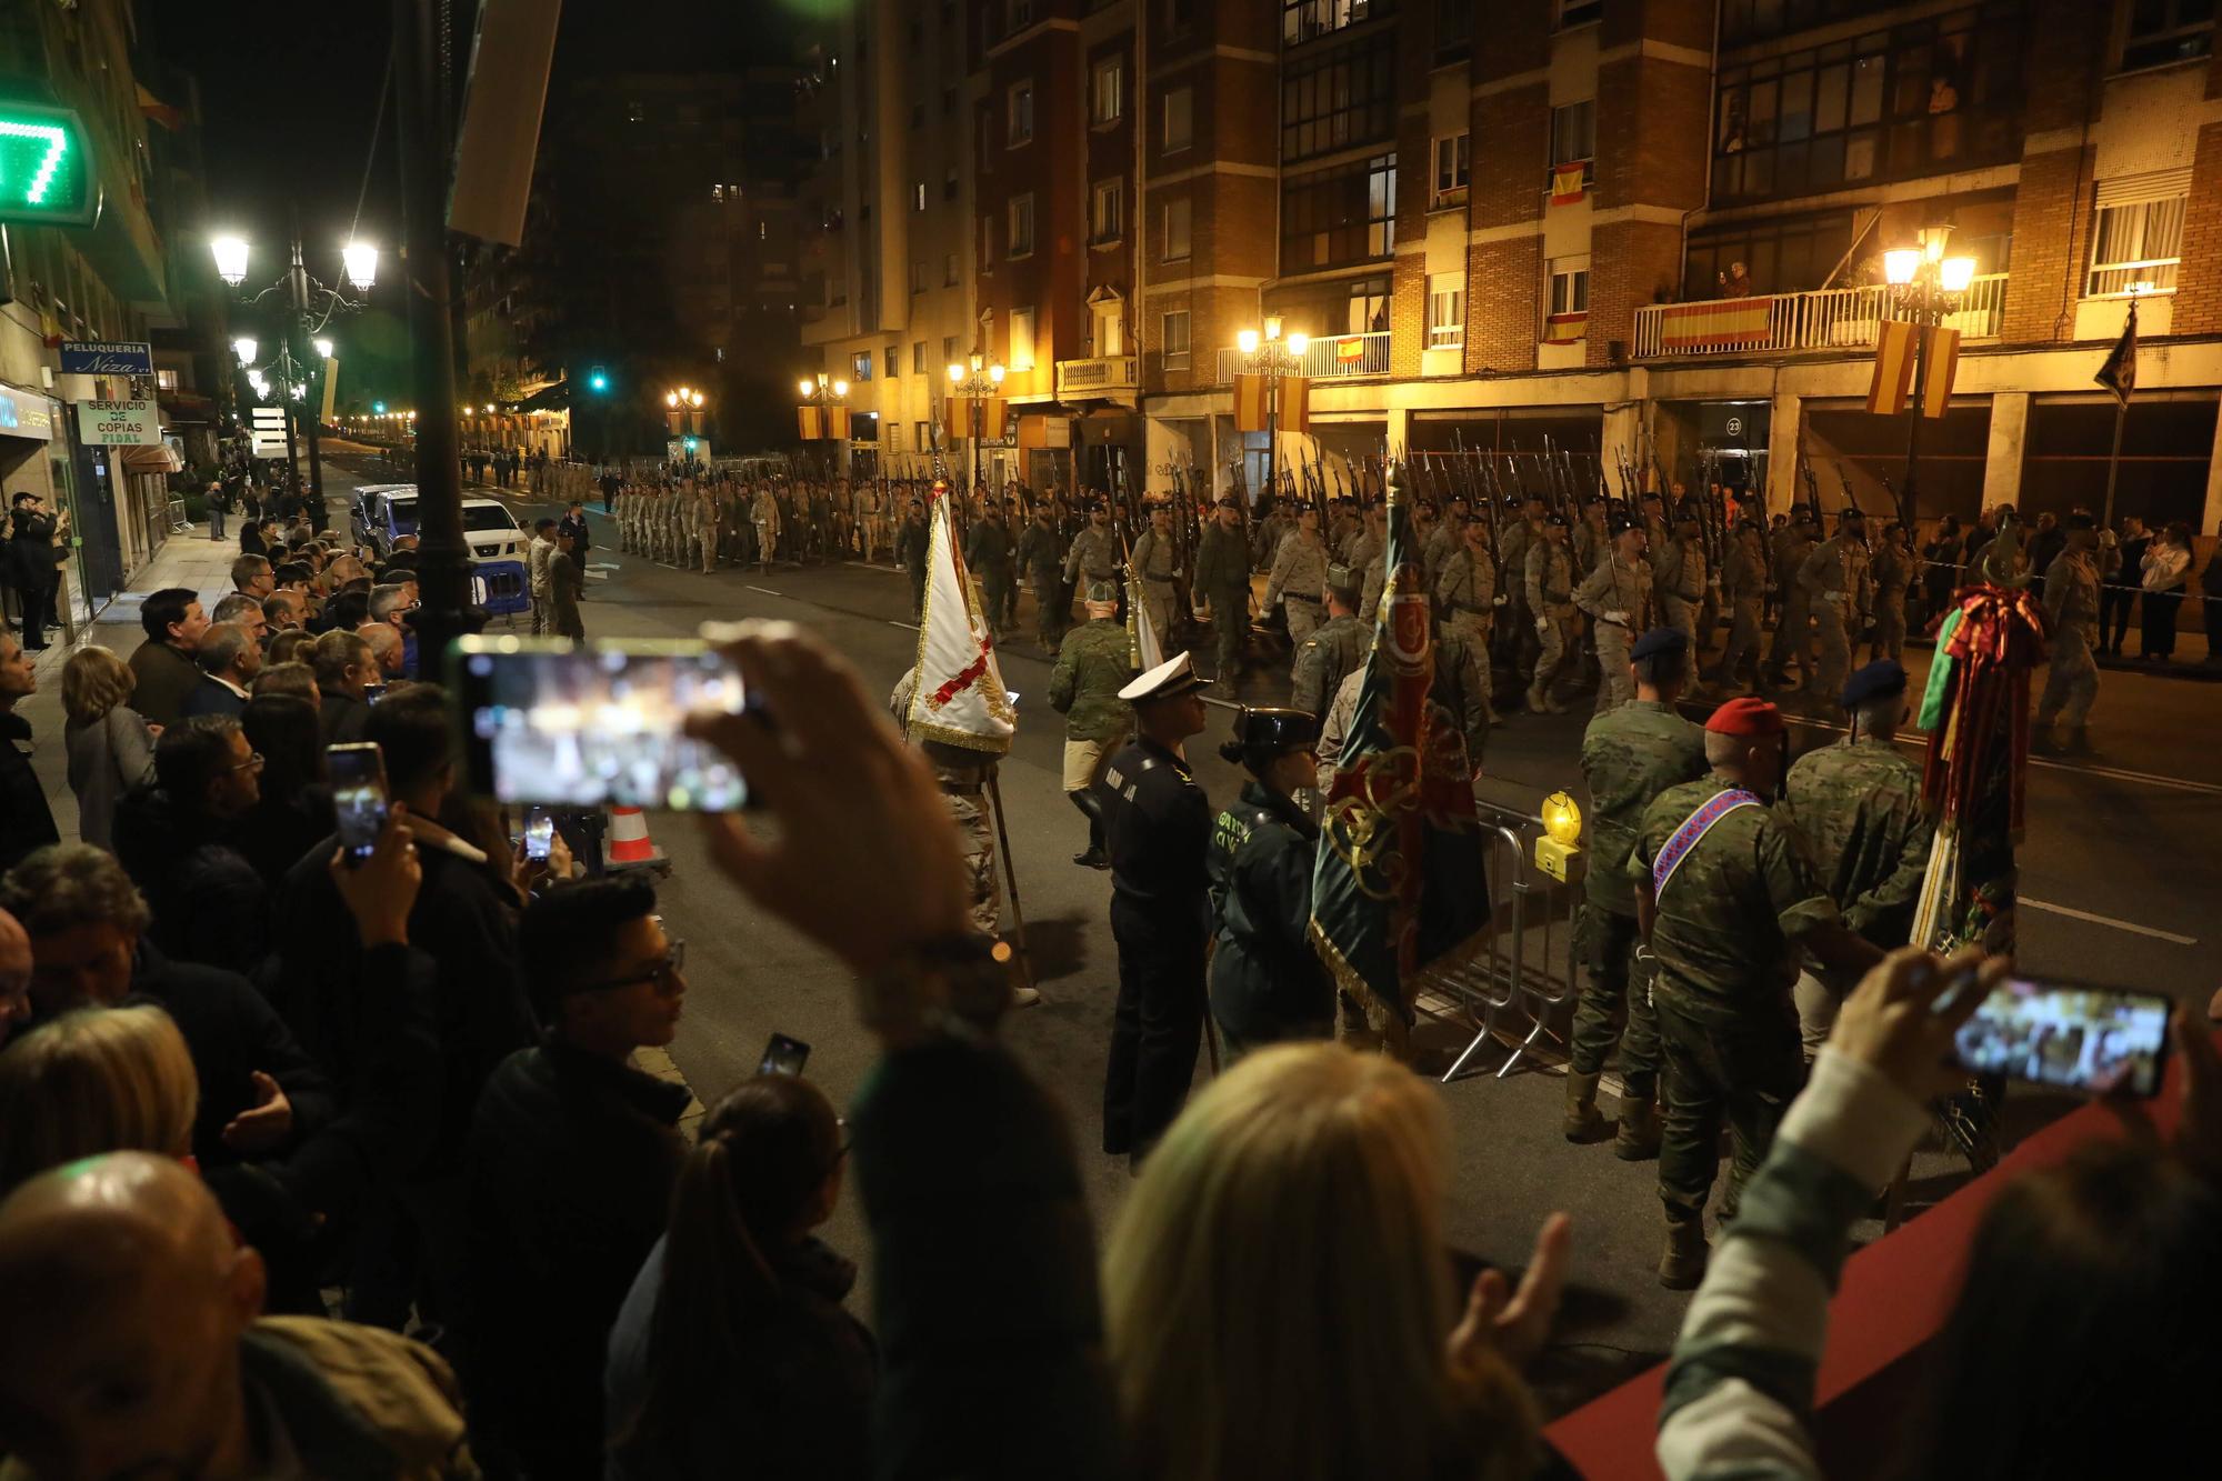
{"type": "Polygon", "coordinates": [[[464,638],[462,732],[476,792],[504,805],[731,812],[740,769],[689,740],[689,714],[738,714],[740,674],[704,643],[464,638]]]}

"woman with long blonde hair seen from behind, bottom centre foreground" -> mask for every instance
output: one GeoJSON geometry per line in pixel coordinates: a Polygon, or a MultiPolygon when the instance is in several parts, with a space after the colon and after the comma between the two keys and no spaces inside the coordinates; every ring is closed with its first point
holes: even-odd
{"type": "Polygon", "coordinates": [[[1104,1256],[1135,1474],[1524,1477],[1502,1361],[1453,1376],[1449,1121],[1395,1061],[1260,1050],[1151,1152],[1104,1256]]]}

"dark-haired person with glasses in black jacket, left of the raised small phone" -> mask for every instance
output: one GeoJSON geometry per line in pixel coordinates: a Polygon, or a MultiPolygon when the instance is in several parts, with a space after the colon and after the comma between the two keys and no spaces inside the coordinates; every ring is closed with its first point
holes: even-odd
{"type": "Polygon", "coordinates": [[[262,756],[231,716],[202,714],[153,743],[153,787],[116,805],[116,856],[153,907],[167,954],[253,976],[269,952],[269,887],[222,841],[260,796],[262,756]]]}

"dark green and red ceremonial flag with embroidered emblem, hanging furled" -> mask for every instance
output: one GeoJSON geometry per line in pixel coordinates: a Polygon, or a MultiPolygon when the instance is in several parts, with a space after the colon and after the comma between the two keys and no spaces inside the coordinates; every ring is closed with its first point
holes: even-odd
{"type": "Polygon", "coordinates": [[[1389,589],[1358,680],[1358,709],[1327,794],[1311,876],[1311,943],[1367,1023],[1402,1047],[1420,992],[1489,941],[1489,878],[1473,765],[1435,676],[1427,585],[1389,478],[1389,589]]]}

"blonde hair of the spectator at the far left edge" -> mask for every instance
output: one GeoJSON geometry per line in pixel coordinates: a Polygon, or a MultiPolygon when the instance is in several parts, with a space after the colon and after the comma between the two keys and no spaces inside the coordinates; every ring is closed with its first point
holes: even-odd
{"type": "Polygon", "coordinates": [[[167,1012],[62,1014],[0,1052],[0,1196],[100,1152],[182,1156],[198,1114],[193,1056],[167,1012]]]}

